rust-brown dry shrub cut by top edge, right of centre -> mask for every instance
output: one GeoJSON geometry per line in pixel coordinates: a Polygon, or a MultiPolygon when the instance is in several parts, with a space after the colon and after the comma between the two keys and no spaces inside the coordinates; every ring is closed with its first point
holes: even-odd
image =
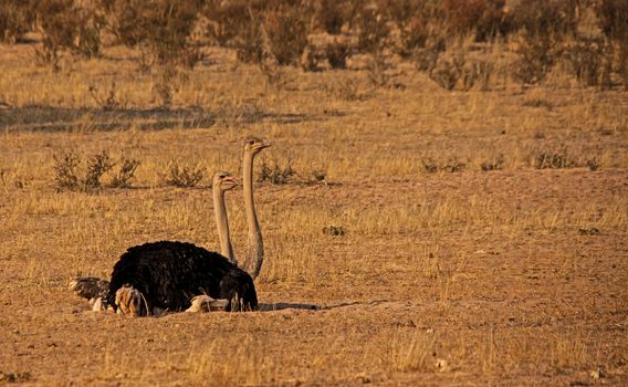
{"type": "Polygon", "coordinates": [[[486,40],[503,30],[505,0],[443,0],[448,31],[459,35],[475,31],[486,40]]]}

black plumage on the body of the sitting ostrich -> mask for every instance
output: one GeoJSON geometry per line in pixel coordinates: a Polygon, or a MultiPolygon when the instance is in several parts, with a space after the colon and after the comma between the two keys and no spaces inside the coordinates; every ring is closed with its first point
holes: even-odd
{"type": "Polygon", "coordinates": [[[116,291],[138,290],[150,307],[182,311],[196,295],[227,299],[236,310],[257,310],[253,279],[229,260],[191,243],[153,242],[129,248],[114,266],[107,301],[116,291]],[[236,302],[237,301],[237,302],[236,302]]]}

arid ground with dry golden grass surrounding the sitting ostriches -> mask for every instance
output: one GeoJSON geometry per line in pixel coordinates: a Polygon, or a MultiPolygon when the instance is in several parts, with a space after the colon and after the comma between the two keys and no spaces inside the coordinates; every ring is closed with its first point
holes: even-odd
{"type": "Polygon", "coordinates": [[[358,61],[278,86],[212,49],[159,109],[136,56],[51,72],[0,45],[0,384],[628,385],[621,87],[449,92],[408,63],[373,87],[358,61]],[[259,299],[320,310],[132,318],[69,291],[143,242],[219,249],[211,174],[240,175],[250,135],[273,144],[259,299]],[[130,188],[60,189],[64,155],[81,178],[103,151],[140,163],[130,188]]]}

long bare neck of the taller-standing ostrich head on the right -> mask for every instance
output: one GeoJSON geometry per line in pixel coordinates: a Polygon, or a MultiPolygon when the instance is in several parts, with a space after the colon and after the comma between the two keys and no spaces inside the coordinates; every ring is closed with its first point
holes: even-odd
{"type": "Polygon", "coordinates": [[[247,207],[247,223],[249,224],[249,259],[247,260],[244,270],[255,279],[262,269],[264,244],[262,242],[262,231],[258,223],[255,205],[253,202],[253,158],[254,156],[252,154],[245,151],[242,169],[244,171],[244,206],[247,207]]]}

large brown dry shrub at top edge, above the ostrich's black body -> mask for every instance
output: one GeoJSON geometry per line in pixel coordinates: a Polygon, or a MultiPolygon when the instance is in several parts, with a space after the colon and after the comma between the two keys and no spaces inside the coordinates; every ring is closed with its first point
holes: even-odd
{"type": "Polygon", "coordinates": [[[103,0],[119,43],[148,51],[154,63],[192,66],[200,59],[189,41],[201,0],[103,0]]]}

